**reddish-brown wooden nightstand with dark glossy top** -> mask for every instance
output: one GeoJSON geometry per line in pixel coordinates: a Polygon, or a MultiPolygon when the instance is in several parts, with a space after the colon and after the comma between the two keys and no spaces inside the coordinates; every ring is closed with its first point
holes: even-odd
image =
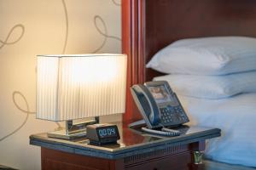
{"type": "Polygon", "coordinates": [[[220,129],[183,126],[179,130],[182,135],[167,138],[119,124],[118,144],[95,146],[88,139],[52,139],[46,133],[30,136],[30,144],[41,146],[43,170],[201,168],[194,163],[194,154],[205,149],[206,139],[220,136],[220,129]]]}

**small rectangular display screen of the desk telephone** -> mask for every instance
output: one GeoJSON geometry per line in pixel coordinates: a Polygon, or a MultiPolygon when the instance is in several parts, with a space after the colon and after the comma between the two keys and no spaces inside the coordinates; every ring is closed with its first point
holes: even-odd
{"type": "Polygon", "coordinates": [[[148,88],[151,94],[153,95],[156,103],[166,103],[172,101],[164,85],[148,88]]]}

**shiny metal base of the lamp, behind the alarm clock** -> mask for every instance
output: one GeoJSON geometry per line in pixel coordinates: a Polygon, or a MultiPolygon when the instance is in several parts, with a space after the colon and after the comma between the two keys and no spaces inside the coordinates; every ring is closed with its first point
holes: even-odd
{"type": "Polygon", "coordinates": [[[86,126],[96,124],[100,122],[99,116],[95,117],[95,120],[73,123],[73,120],[66,121],[64,129],[47,133],[50,138],[57,139],[77,139],[86,136],[86,126]]]}

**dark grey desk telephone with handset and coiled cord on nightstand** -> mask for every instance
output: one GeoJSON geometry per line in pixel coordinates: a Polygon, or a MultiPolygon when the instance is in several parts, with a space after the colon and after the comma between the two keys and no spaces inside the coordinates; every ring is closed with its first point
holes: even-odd
{"type": "Polygon", "coordinates": [[[132,97],[143,116],[147,127],[142,130],[166,136],[177,136],[179,131],[168,127],[177,127],[189,122],[189,117],[166,81],[145,82],[131,87],[132,97]],[[160,128],[161,130],[155,130],[160,128]]]}

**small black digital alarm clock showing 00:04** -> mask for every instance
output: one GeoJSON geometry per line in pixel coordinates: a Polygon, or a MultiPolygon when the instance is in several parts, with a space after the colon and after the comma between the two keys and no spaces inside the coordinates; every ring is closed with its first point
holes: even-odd
{"type": "Polygon", "coordinates": [[[86,127],[86,137],[90,144],[116,144],[120,139],[119,129],[113,124],[93,124],[86,127]]]}

